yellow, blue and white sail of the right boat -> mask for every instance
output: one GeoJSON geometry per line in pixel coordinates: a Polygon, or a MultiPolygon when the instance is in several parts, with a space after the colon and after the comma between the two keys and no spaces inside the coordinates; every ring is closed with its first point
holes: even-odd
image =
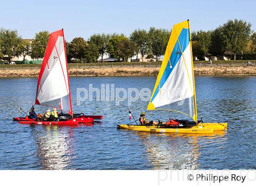
{"type": "Polygon", "coordinates": [[[147,109],[154,110],[185,99],[189,100],[186,105],[188,112],[178,112],[185,113],[197,121],[189,21],[173,26],[147,109]]]}

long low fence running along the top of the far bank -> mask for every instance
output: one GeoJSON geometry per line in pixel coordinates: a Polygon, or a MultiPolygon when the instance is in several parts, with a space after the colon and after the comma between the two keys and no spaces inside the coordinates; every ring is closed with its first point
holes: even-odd
{"type": "MultiPolygon", "coordinates": [[[[88,63],[88,65],[70,65],[69,64],[69,69],[73,69],[73,68],[115,68],[115,67],[160,67],[161,63],[154,63],[154,64],[144,64],[144,63],[140,63],[140,64],[133,64],[133,63],[120,63],[120,64],[116,64],[116,63],[108,63],[108,64],[94,64],[92,65],[91,63],[88,63]]],[[[210,67],[210,66],[256,66],[256,63],[214,63],[214,64],[194,64],[195,67],[210,67]]],[[[41,68],[41,64],[33,64],[32,66],[20,66],[20,65],[1,65],[0,69],[39,69],[41,68]]]]}

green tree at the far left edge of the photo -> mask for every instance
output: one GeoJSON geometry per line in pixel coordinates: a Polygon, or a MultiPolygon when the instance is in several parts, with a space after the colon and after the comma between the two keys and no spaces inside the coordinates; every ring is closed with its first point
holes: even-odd
{"type": "Polygon", "coordinates": [[[11,58],[21,54],[19,45],[21,43],[21,36],[18,35],[16,30],[0,29],[0,51],[2,56],[8,57],[8,62],[11,58]]]}

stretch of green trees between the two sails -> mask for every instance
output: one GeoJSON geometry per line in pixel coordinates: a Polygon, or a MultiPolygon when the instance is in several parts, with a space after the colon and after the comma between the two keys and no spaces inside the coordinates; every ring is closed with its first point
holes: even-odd
{"type": "Polygon", "coordinates": [[[157,58],[164,55],[170,31],[161,28],[150,27],[134,30],[129,37],[124,34],[93,34],[85,41],[82,37],[76,37],[71,42],[66,42],[67,58],[79,59],[80,62],[95,62],[107,52],[118,61],[128,61],[129,57],[138,54],[144,59],[145,54],[153,54],[157,58]]]}

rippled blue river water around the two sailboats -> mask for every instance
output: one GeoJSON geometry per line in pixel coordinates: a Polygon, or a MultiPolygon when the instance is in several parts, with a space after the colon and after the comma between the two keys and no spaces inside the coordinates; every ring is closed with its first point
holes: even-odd
{"type": "MultiPolygon", "coordinates": [[[[37,78],[0,78],[0,169],[256,169],[256,77],[196,77],[198,118],[228,122],[213,135],[155,134],[117,130],[128,122],[128,101],[83,101],[77,88],[153,89],[155,77],[72,77],[76,113],[103,114],[94,125],[20,125],[18,107],[35,100],[37,78]]],[[[132,102],[138,118],[148,102],[132,102]]],[[[43,111],[36,106],[37,113],[43,111]]],[[[163,121],[176,114],[150,111],[163,121]]]]}

